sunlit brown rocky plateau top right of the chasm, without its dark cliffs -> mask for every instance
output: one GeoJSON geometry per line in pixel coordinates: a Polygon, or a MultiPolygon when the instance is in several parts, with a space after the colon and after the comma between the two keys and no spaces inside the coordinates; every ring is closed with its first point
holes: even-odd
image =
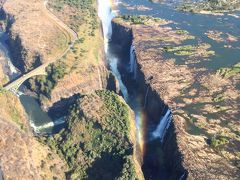
{"type": "MultiPolygon", "coordinates": [[[[120,19],[115,21],[124,24],[120,19]]],[[[205,60],[203,55],[208,54],[199,53],[201,48],[184,56],[186,64],[164,58],[172,53],[165,52],[164,46],[179,47],[186,38],[185,33],[162,22],[127,26],[133,31],[140,72],[145,80],[152,77],[151,89],[173,111],[176,140],[189,178],[238,179],[240,92],[236,83],[205,68],[195,68],[194,63],[205,60]]]]}

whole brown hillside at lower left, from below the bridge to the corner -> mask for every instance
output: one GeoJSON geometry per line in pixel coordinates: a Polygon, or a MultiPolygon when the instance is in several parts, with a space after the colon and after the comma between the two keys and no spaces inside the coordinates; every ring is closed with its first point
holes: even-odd
{"type": "Polygon", "coordinates": [[[31,133],[20,100],[0,93],[0,167],[4,179],[63,179],[66,166],[31,133]]]}

